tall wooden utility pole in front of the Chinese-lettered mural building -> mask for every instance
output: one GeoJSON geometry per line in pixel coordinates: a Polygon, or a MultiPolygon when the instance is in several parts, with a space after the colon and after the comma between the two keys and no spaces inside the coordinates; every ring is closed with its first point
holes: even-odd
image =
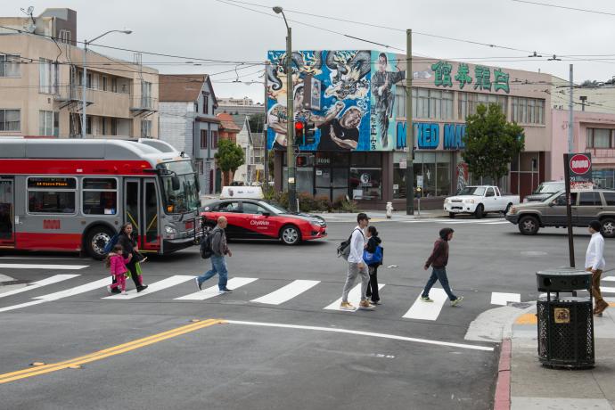
{"type": "Polygon", "coordinates": [[[414,127],[412,125],[412,29],[406,29],[406,215],[414,215],[414,127]]]}

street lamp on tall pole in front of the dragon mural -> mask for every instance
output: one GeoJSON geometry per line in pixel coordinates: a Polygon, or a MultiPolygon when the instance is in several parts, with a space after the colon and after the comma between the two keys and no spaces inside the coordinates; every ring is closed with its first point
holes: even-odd
{"type": "Polygon", "coordinates": [[[274,7],[275,14],[282,14],[284,18],[284,24],[286,25],[286,163],[288,169],[288,206],[291,210],[299,212],[297,207],[297,185],[295,181],[295,158],[293,153],[294,148],[294,122],[295,117],[293,113],[294,107],[292,98],[292,45],[291,45],[291,28],[288,26],[286,15],[284,15],[283,8],[279,5],[274,7]]]}

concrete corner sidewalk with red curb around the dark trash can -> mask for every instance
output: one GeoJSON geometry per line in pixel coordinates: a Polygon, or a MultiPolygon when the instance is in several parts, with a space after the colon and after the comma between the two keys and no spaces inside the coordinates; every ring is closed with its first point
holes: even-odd
{"type": "Polygon", "coordinates": [[[589,370],[541,365],[537,354],[536,305],[519,316],[512,325],[512,339],[503,342],[494,408],[615,409],[615,299],[605,300],[610,307],[602,317],[594,316],[595,367],[589,370]]]}

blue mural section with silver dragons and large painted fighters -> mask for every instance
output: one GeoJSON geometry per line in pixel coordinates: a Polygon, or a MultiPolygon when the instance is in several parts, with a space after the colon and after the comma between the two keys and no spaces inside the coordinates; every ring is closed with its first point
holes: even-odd
{"type": "MultiPolygon", "coordinates": [[[[270,149],[286,149],[288,91],[285,58],[282,51],[268,53],[267,145],[270,149]]],[[[294,119],[314,122],[317,127],[315,142],[300,146],[301,150],[370,150],[370,60],[371,53],[365,50],[292,53],[294,119]],[[320,110],[303,108],[303,81],[308,74],[320,83],[316,86],[322,90],[320,110]]],[[[314,100],[315,96],[311,98],[314,100]]]]}

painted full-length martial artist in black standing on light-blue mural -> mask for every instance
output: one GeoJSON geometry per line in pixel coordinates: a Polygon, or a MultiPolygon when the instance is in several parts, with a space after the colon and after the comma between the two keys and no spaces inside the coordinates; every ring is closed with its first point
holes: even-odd
{"type": "Polygon", "coordinates": [[[377,59],[374,59],[375,70],[372,73],[372,111],[376,133],[380,135],[377,147],[381,150],[392,148],[389,147],[389,142],[393,141],[392,137],[389,138],[389,122],[394,112],[394,86],[406,78],[406,70],[402,70],[399,64],[393,66],[392,61],[397,61],[395,54],[377,53],[377,59]],[[394,67],[393,70],[391,67],[394,67]]]}

